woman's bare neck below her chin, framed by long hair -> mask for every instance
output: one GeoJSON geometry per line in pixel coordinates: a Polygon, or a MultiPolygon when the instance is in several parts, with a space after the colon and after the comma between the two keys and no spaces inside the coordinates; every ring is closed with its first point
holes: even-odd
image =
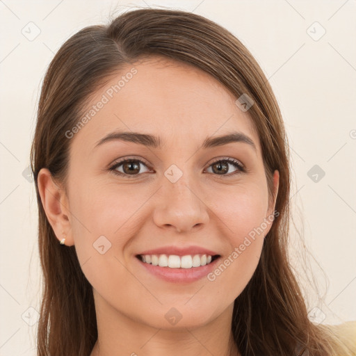
{"type": "Polygon", "coordinates": [[[90,356],[239,356],[231,332],[233,305],[204,325],[170,329],[133,321],[96,300],[98,339],[90,356]]]}

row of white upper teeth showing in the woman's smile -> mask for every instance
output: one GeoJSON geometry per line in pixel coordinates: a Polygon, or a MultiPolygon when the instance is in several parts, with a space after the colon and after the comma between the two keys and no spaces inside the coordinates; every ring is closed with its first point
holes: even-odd
{"type": "Polygon", "coordinates": [[[192,268],[210,264],[211,256],[208,254],[187,254],[186,256],[177,256],[176,254],[140,254],[143,262],[153,266],[170,268],[192,268]]]}

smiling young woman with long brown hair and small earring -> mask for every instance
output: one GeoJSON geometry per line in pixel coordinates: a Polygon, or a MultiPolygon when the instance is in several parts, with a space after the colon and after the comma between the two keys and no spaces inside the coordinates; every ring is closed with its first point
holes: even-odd
{"type": "Polygon", "coordinates": [[[355,355],[309,321],[280,110],[218,24],[140,9],[73,35],[44,78],[31,159],[39,356],[355,355]]]}

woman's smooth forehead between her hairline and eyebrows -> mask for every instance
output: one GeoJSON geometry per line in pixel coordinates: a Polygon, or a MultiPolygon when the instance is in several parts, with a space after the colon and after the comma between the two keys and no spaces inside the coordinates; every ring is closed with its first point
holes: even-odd
{"type": "Polygon", "coordinates": [[[89,120],[73,144],[94,146],[120,130],[154,134],[165,147],[174,143],[196,149],[208,136],[241,131],[259,149],[252,120],[235,101],[223,84],[192,65],[144,58],[127,64],[92,95],[81,116],[89,120]]]}

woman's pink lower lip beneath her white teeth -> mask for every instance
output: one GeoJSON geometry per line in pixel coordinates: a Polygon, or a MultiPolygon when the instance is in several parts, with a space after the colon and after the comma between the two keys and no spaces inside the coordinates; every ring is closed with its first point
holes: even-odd
{"type": "Polygon", "coordinates": [[[220,261],[220,257],[206,264],[205,266],[192,267],[192,268],[170,268],[153,266],[152,264],[146,264],[137,257],[138,262],[146,268],[150,273],[165,280],[166,282],[195,282],[205,277],[211,271],[216,268],[216,264],[220,261]]]}

